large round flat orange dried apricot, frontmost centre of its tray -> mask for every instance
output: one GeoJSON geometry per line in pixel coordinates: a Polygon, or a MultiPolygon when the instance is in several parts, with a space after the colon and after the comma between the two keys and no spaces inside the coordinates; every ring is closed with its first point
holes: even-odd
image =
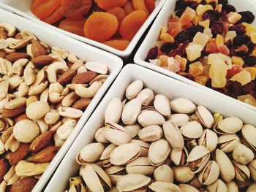
{"type": "Polygon", "coordinates": [[[116,33],[117,28],[118,20],[116,16],[108,12],[94,12],[86,20],[83,31],[89,39],[104,42],[116,33]]]}

